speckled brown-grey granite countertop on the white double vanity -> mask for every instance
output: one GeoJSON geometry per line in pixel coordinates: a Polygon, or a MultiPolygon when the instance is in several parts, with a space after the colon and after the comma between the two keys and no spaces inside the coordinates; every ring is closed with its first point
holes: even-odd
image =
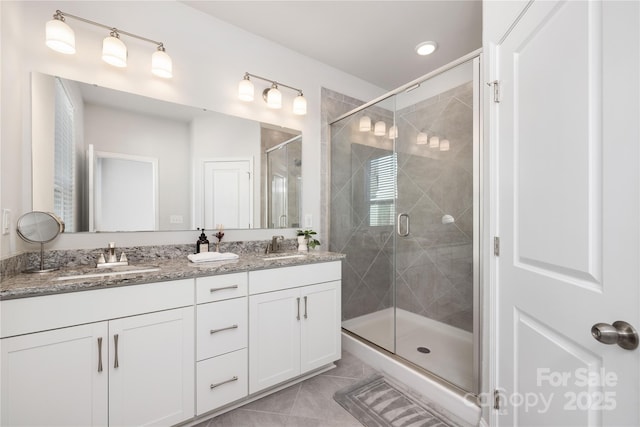
{"type": "Polygon", "coordinates": [[[132,263],[127,267],[128,270],[155,269],[137,273],[127,273],[126,270],[119,270],[118,267],[98,269],[95,266],[70,267],[45,274],[22,273],[0,283],[0,300],[329,262],[345,257],[344,254],[335,252],[313,251],[304,253],[303,257],[279,258],[298,254],[301,253],[241,254],[235,260],[205,263],[192,263],[186,257],[180,257],[157,260],[152,263],[132,263]],[[104,275],[114,271],[122,271],[122,273],[115,276],[104,275]],[[79,277],[60,280],[69,276],[79,277]]]}

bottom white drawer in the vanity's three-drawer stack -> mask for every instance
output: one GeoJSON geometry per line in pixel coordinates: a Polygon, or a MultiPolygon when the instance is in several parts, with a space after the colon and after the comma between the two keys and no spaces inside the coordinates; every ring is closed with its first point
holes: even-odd
{"type": "Polygon", "coordinates": [[[198,362],[197,372],[197,415],[248,394],[246,348],[198,362]]]}

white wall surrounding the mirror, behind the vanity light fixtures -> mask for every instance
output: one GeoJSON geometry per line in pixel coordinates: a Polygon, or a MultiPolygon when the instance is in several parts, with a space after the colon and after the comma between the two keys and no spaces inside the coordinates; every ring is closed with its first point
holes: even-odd
{"type": "MultiPolygon", "coordinates": [[[[95,83],[152,98],[193,105],[226,114],[300,129],[303,138],[303,211],[319,228],[320,200],[320,88],[327,87],[358,99],[372,99],[385,91],[346,73],[311,60],[277,44],[249,34],[175,1],[140,2],[13,2],[0,3],[2,50],[0,208],[12,210],[12,229],[18,216],[31,210],[30,73],[39,71],[73,80],[95,83]],[[113,68],[100,59],[100,45],[107,32],[68,20],[76,34],[77,54],[67,56],[44,44],[45,23],[55,9],[119,27],[164,42],[171,55],[174,78],[163,80],[149,72],[154,47],[126,38],[129,65],[113,68]],[[304,117],[287,109],[269,110],[259,99],[246,104],[237,99],[237,84],[245,71],[273,78],[304,90],[308,113],[304,117]]],[[[251,9],[247,9],[251,13],[251,9]]],[[[256,92],[263,89],[255,82],[256,92]]],[[[295,94],[283,89],[288,105],[295,94]]],[[[256,97],[258,98],[258,97],[256,97]]],[[[320,230],[321,231],[321,230],[320,230]]],[[[267,238],[269,230],[228,232],[230,240],[267,238]]],[[[119,245],[189,243],[196,233],[124,233],[119,245]]],[[[91,248],[114,237],[92,234],[62,235],[50,248],[91,248]]],[[[15,231],[1,237],[0,256],[23,248],[15,231]]]]}

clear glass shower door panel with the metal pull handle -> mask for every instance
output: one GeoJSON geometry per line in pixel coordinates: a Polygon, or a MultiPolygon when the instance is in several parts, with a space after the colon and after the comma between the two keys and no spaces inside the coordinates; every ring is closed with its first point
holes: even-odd
{"type": "Polygon", "coordinates": [[[468,62],[396,95],[395,114],[395,352],[465,390],[475,389],[473,105],[468,62]]]}

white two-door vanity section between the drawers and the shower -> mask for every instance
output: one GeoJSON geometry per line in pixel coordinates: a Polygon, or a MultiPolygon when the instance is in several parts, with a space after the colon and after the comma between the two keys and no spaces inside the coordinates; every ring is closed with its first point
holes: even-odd
{"type": "Polygon", "coordinates": [[[249,272],[249,392],[340,359],[340,262],[249,272]]]}

